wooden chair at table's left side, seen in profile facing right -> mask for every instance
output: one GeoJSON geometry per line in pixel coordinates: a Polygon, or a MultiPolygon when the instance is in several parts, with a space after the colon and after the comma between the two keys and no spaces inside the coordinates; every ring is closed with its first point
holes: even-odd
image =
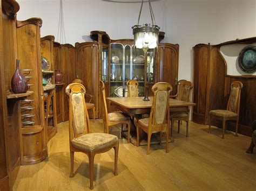
{"type": "Polygon", "coordinates": [[[100,99],[102,103],[102,117],[104,122],[104,132],[109,133],[109,127],[112,125],[122,124],[121,136],[123,136],[124,124],[127,124],[128,143],[130,143],[131,117],[122,112],[107,112],[105,86],[103,81],[99,81],[100,99]]]}

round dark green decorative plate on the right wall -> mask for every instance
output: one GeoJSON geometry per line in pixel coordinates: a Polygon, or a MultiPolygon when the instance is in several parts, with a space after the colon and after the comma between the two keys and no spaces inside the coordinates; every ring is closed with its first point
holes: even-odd
{"type": "Polygon", "coordinates": [[[256,46],[250,45],[242,48],[239,53],[238,65],[244,72],[254,72],[256,69],[256,46]]]}

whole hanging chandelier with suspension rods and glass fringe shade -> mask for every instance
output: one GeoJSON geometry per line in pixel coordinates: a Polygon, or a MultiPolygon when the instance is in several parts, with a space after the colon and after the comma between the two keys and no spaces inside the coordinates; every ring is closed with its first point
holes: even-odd
{"type": "Polygon", "coordinates": [[[136,48],[143,48],[147,51],[148,48],[156,48],[158,45],[158,34],[160,27],[156,25],[156,20],[154,19],[154,13],[149,0],[149,9],[152,20],[152,25],[143,24],[139,25],[140,14],[142,13],[142,5],[140,6],[138,24],[132,26],[132,32],[134,35],[134,44],[136,48]]]}

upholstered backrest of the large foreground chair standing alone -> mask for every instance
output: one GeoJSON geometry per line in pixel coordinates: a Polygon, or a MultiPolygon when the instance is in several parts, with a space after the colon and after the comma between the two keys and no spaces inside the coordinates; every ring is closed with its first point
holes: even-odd
{"type": "Polygon", "coordinates": [[[89,115],[84,94],[85,88],[80,83],[71,83],[66,87],[69,96],[69,132],[70,141],[91,132],[89,115]]]}

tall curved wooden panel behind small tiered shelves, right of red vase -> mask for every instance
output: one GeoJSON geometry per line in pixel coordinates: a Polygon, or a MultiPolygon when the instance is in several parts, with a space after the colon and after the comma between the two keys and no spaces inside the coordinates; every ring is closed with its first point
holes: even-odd
{"type": "Polygon", "coordinates": [[[35,117],[32,119],[36,122],[32,126],[23,126],[19,129],[21,137],[21,162],[22,164],[35,164],[44,160],[48,155],[47,131],[44,123],[40,48],[40,27],[42,26],[42,20],[40,18],[30,18],[24,21],[17,21],[16,26],[17,52],[18,58],[21,60],[20,66],[22,69],[32,69],[29,74],[32,76],[32,79],[29,83],[33,84],[30,90],[34,94],[30,96],[33,101],[29,106],[35,107],[31,112],[35,114],[35,117]],[[38,133],[40,136],[38,136],[38,133]],[[35,152],[30,150],[31,153],[28,153],[27,151],[30,145],[36,145],[35,149],[39,149],[41,152],[34,154],[35,152]]]}

